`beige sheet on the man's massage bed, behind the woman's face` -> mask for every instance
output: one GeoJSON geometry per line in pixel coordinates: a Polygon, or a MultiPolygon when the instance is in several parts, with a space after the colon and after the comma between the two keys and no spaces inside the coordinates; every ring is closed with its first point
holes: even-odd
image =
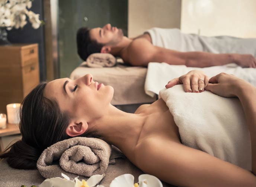
{"type": "Polygon", "coordinates": [[[145,94],[144,83],[147,74],[145,67],[131,67],[118,63],[110,68],[89,68],[82,63],[70,75],[71,79],[92,74],[93,80],[114,88],[113,105],[150,103],[156,96],[145,94]]]}

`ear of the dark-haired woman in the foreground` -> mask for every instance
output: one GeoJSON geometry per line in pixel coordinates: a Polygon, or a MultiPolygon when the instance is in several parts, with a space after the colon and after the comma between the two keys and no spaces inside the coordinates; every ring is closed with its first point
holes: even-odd
{"type": "Polygon", "coordinates": [[[75,137],[83,134],[87,129],[88,123],[86,121],[72,121],[66,129],[66,134],[75,137]]]}

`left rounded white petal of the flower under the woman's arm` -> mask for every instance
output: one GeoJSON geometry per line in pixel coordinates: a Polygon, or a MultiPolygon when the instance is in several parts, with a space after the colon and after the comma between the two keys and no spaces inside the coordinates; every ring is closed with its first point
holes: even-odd
{"type": "Polygon", "coordinates": [[[134,176],[131,174],[124,174],[116,177],[110,183],[109,187],[132,187],[134,184],[134,176]]]}

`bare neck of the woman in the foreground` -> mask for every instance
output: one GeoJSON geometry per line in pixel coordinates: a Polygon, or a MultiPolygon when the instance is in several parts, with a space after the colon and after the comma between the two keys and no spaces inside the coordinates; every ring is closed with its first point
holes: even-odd
{"type": "Polygon", "coordinates": [[[110,105],[106,114],[89,124],[105,141],[119,149],[135,146],[148,115],[123,112],[110,105]]]}

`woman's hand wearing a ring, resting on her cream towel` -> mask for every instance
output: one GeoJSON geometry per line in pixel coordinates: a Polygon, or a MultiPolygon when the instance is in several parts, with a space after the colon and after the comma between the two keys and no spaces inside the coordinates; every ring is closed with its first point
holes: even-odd
{"type": "Polygon", "coordinates": [[[200,70],[192,70],[187,74],[174,78],[166,84],[166,88],[171,88],[177,84],[183,84],[185,92],[199,93],[204,91],[205,85],[209,82],[209,78],[200,70]]]}

